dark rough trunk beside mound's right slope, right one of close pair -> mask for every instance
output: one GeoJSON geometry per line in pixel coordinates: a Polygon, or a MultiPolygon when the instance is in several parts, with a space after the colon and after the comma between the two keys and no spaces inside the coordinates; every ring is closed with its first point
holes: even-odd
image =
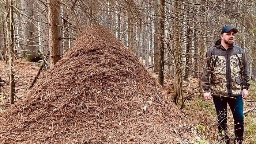
{"type": "Polygon", "coordinates": [[[165,44],[163,36],[165,35],[165,0],[159,1],[159,50],[160,58],[158,59],[158,83],[163,87],[163,70],[164,70],[164,51],[165,44]]]}

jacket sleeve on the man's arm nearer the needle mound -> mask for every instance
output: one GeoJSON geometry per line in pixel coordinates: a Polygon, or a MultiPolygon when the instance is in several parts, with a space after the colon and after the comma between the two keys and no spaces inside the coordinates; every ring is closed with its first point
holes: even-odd
{"type": "Polygon", "coordinates": [[[201,76],[201,85],[202,85],[202,89],[204,90],[204,92],[209,92],[210,91],[210,82],[209,82],[209,76],[211,74],[211,58],[212,54],[211,54],[211,48],[209,48],[206,52],[206,57],[204,57],[204,61],[203,61],[203,74],[201,76]]]}

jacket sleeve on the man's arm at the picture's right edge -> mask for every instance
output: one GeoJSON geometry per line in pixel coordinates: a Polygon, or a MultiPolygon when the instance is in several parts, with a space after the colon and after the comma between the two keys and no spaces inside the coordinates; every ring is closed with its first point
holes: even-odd
{"type": "Polygon", "coordinates": [[[241,62],[241,76],[242,76],[242,89],[248,89],[250,86],[250,73],[248,68],[248,63],[245,57],[245,53],[243,51],[243,61],[241,62]]]}

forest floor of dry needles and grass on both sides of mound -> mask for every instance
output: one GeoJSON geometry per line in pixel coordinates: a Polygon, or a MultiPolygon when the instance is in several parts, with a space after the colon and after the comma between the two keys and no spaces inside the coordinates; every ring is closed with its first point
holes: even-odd
{"type": "MultiPolygon", "coordinates": [[[[30,86],[34,75],[37,73],[39,63],[31,63],[26,61],[15,61],[15,80],[16,80],[16,97],[15,101],[26,96],[29,92],[27,87],[30,86]]],[[[0,75],[6,84],[3,84],[4,88],[1,87],[1,92],[5,94],[4,97],[0,97],[0,112],[8,107],[8,66],[5,66],[4,61],[0,61],[0,75]]],[[[152,73],[155,78],[158,75],[152,73]]],[[[189,82],[185,82],[183,85],[183,97],[187,97],[189,94],[198,91],[199,84],[198,79],[190,79],[189,82]]],[[[163,90],[169,94],[170,98],[173,99],[173,78],[168,75],[165,76],[165,85],[163,90]]],[[[1,96],[1,95],[0,95],[1,96]]],[[[256,106],[256,82],[251,81],[251,87],[249,89],[249,98],[244,101],[244,110],[255,108],[256,106]]],[[[178,104],[181,106],[181,102],[178,104]]],[[[217,116],[213,101],[204,101],[200,97],[199,93],[193,95],[191,100],[185,102],[182,110],[188,119],[192,119],[193,128],[192,133],[198,136],[195,144],[217,144],[218,133],[217,133],[217,116]]],[[[228,110],[228,126],[229,135],[234,137],[233,127],[234,124],[230,109],[228,110]]],[[[256,110],[252,110],[245,114],[245,144],[256,144],[256,110]]]]}

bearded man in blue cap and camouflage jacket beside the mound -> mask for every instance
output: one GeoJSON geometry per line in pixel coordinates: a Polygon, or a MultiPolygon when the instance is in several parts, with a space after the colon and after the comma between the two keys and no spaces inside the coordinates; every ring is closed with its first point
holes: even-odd
{"type": "Polygon", "coordinates": [[[205,72],[201,83],[204,100],[214,101],[218,116],[218,129],[222,140],[230,143],[227,136],[227,104],[233,113],[235,144],[242,144],[244,139],[243,101],[248,97],[249,69],[244,50],[234,44],[237,29],[225,26],[221,39],[207,50],[205,72]]]}

